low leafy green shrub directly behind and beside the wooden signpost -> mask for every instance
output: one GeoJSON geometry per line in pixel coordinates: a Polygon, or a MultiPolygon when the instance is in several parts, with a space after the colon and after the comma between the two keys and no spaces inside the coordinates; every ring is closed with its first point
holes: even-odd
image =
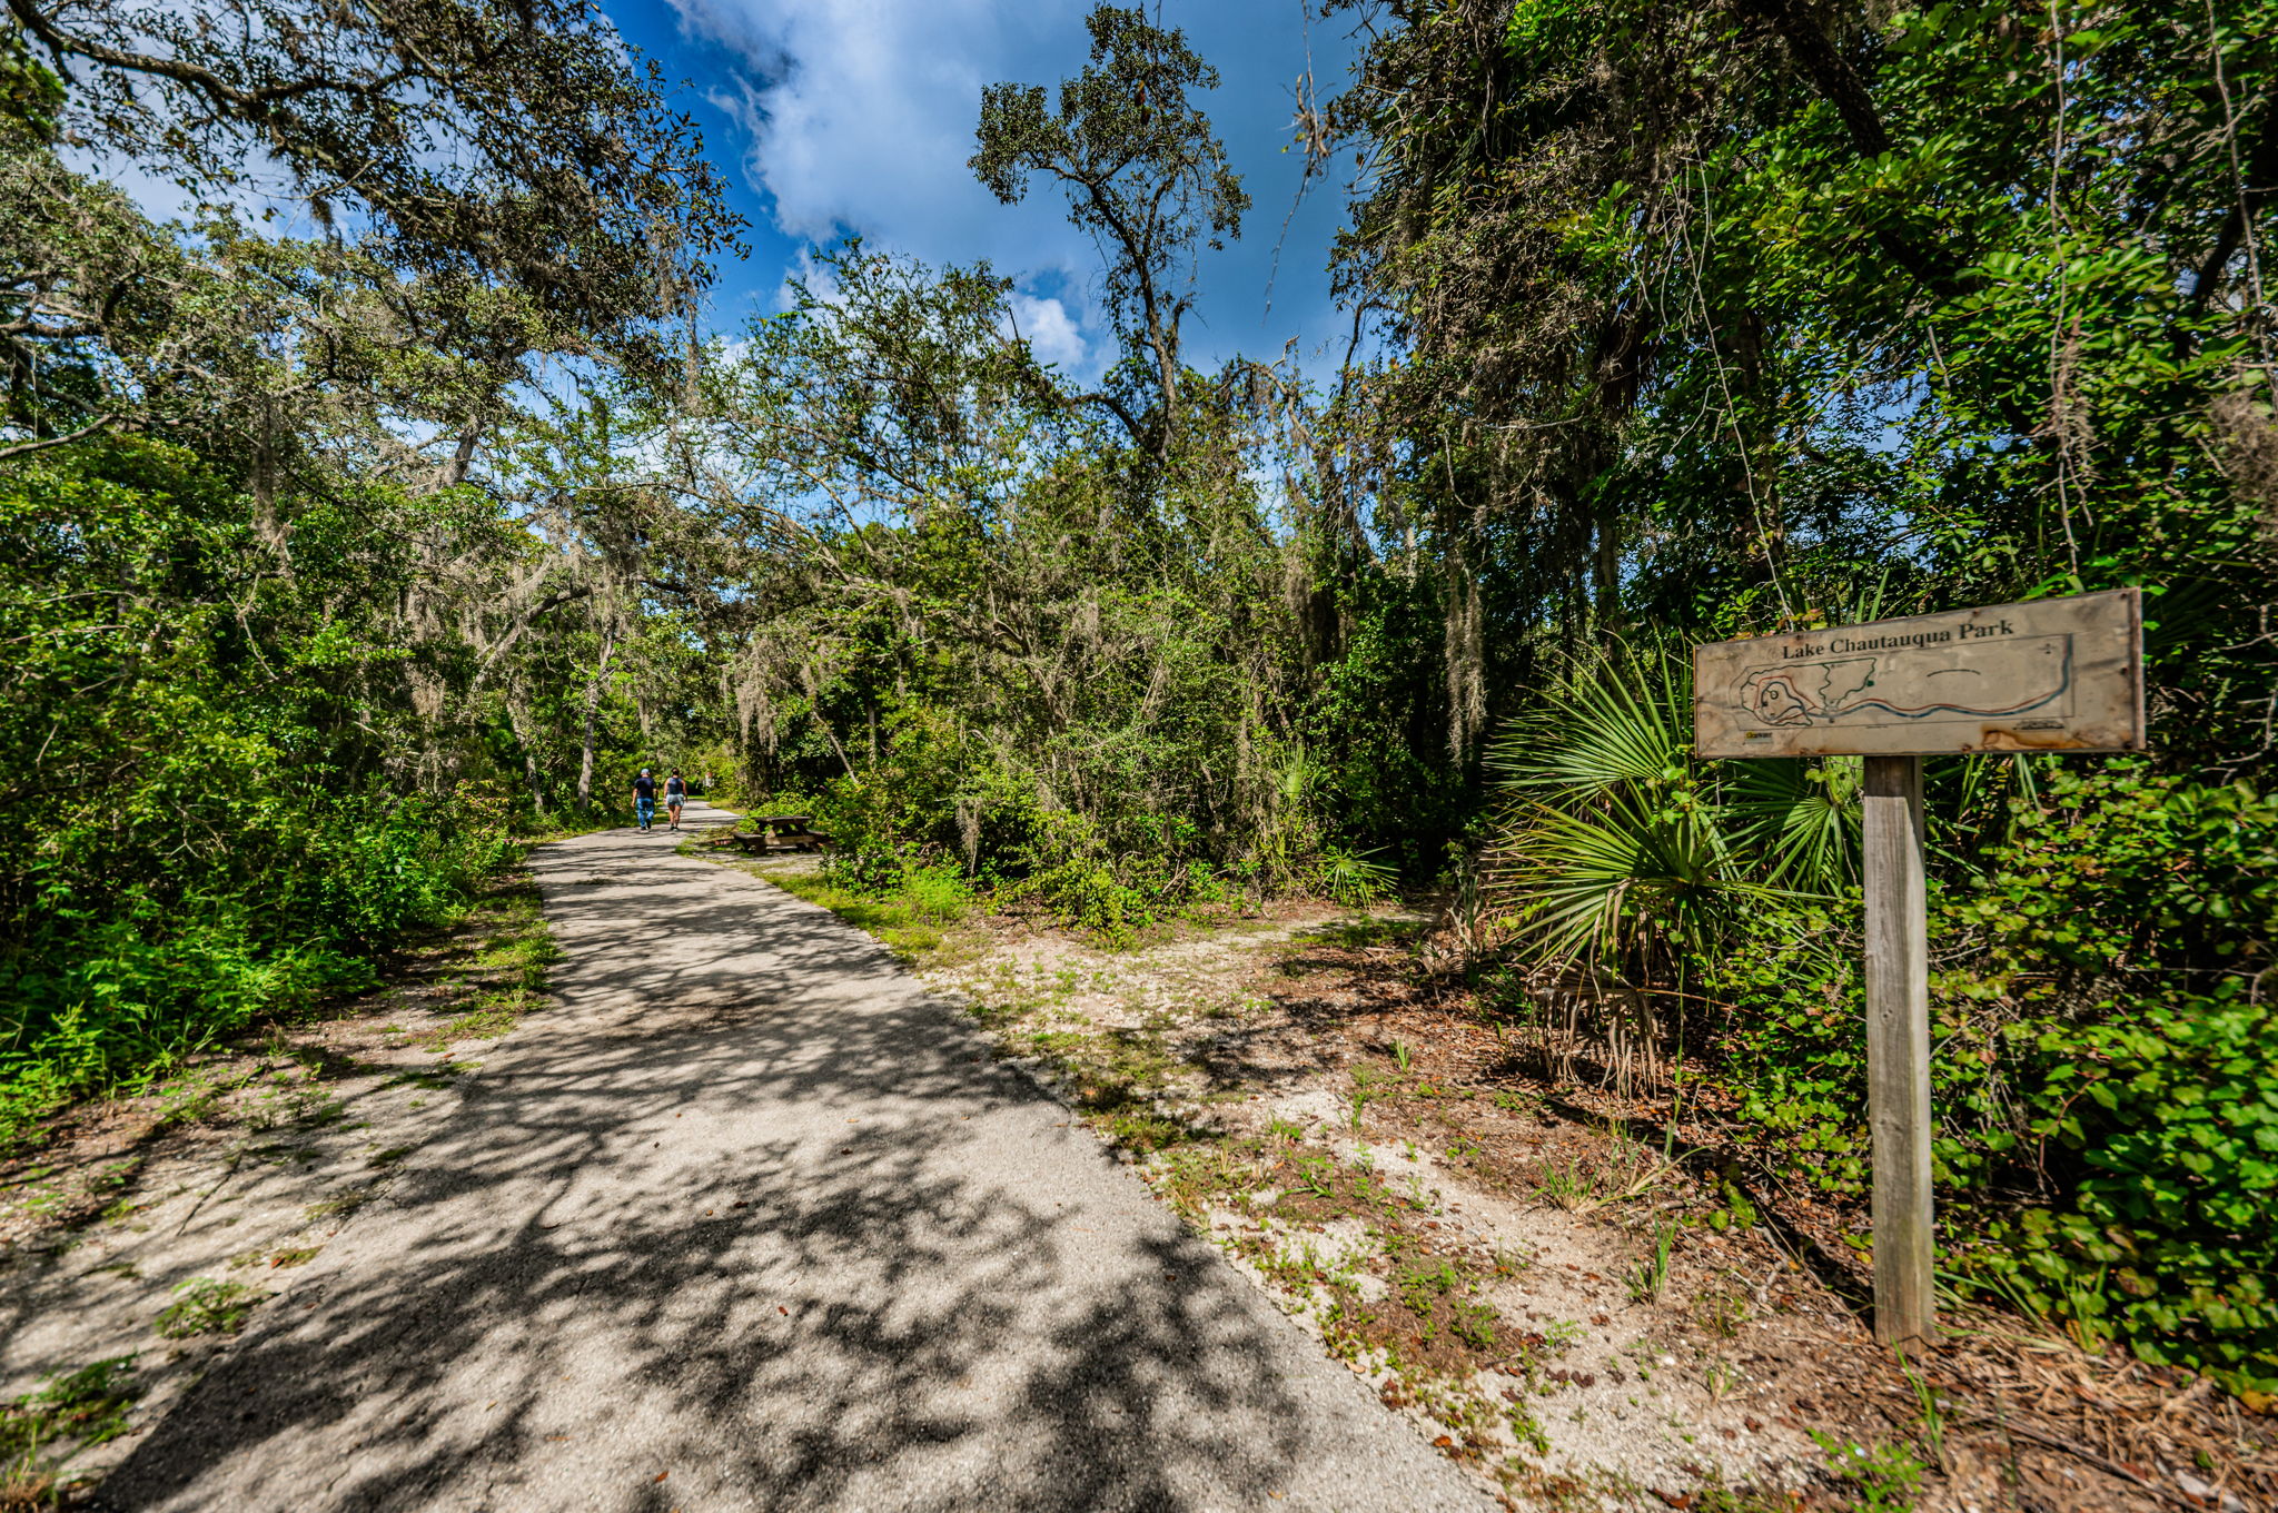
{"type": "MultiPolygon", "coordinates": [[[[1868,1178],[1857,895],[1763,911],[1704,991],[1715,1078],[1791,1171],[1868,1178]]],[[[2278,800],[2059,768],[1934,891],[1932,1101],[1952,1260],[2157,1360],[2278,1385],[2278,800]]]]}

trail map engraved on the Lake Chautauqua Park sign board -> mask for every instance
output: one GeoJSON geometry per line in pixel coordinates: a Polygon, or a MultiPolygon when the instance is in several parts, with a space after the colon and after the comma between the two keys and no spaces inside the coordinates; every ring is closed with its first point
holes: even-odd
{"type": "Polygon", "coordinates": [[[2009,720],[2073,713],[2073,638],[1900,649],[1750,668],[1740,702],[1763,725],[1843,720],[2009,720]]]}

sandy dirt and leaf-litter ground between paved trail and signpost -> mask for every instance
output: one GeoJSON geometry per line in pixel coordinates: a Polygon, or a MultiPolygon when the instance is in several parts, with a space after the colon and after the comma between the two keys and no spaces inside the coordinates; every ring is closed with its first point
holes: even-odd
{"type": "Polygon", "coordinates": [[[1442,1454],[1513,1502],[2278,1506],[2210,1383],[1948,1310],[1866,1328],[1863,1215],[1551,1080],[1421,921],[1319,905],[1103,950],[968,923],[925,975],[1442,1454]]]}

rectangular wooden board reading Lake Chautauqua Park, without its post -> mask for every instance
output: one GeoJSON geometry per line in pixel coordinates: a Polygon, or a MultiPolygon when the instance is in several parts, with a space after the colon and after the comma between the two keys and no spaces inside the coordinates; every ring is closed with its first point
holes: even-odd
{"type": "Polygon", "coordinates": [[[2144,747],[2134,588],[1693,652],[1699,756],[2144,747]]]}

